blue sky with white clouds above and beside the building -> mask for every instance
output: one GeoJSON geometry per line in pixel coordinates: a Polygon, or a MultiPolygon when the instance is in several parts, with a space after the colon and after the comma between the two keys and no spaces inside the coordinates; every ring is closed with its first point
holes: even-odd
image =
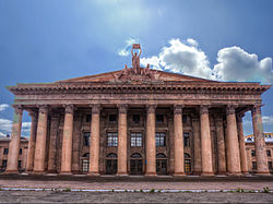
{"type": "MultiPolygon", "coordinates": [[[[0,0],[0,136],[12,127],[7,85],[121,70],[133,43],[152,69],[272,85],[272,11],[271,0],[0,0]]],[[[273,89],[262,99],[273,132],[273,89]]],[[[29,125],[24,111],[22,136],[29,125]]]]}

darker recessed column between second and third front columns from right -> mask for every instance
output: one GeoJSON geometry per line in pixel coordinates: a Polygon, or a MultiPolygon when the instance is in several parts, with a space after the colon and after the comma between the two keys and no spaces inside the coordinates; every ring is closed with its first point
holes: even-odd
{"type": "Polygon", "coordinates": [[[224,140],[224,123],[222,116],[215,116],[215,128],[217,135],[217,151],[218,151],[218,175],[226,173],[226,149],[224,140]]]}

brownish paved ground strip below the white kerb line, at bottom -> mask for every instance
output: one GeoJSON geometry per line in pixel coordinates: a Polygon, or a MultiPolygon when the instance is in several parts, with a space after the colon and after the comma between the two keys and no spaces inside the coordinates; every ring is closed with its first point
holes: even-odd
{"type": "Polygon", "coordinates": [[[271,193],[103,193],[0,191],[1,203],[273,203],[271,193]]]}

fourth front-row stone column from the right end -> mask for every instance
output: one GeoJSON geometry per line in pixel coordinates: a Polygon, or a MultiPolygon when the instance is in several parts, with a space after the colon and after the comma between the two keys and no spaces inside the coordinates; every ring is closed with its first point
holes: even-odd
{"type": "Polygon", "coordinates": [[[175,173],[174,176],[185,176],[182,106],[179,106],[179,105],[176,105],[174,107],[174,132],[175,132],[175,173]]]}

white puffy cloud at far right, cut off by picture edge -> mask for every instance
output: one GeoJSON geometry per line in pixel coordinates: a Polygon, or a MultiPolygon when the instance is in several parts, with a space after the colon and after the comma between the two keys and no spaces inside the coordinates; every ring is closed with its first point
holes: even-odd
{"type": "Polygon", "coordinates": [[[258,60],[254,53],[248,53],[239,47],[223,48],[217,55],[214,73],[218,80],[239,82],[272,83],[272,59],[258,60]]]}

